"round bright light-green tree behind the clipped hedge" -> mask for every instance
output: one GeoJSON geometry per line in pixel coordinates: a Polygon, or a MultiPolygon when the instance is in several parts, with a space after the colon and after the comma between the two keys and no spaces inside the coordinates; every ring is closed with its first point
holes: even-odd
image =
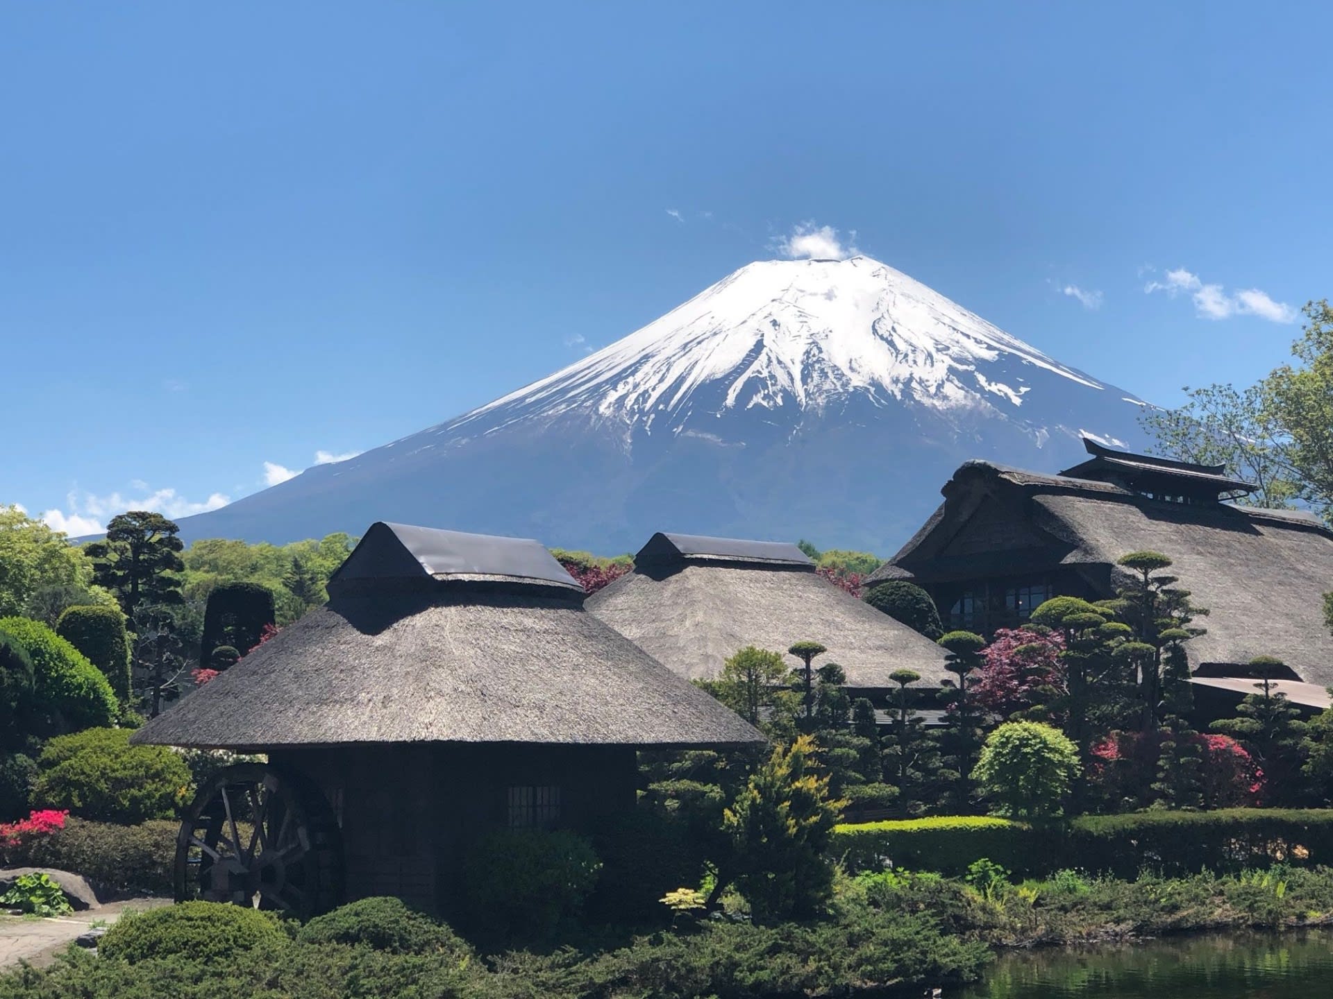
{"type": "Polygon", "coordinates": [[[1082,773],[1078,747],[1041,722],[1005,722],[986,739],[972,778],[990,801],[990,813],[1020,819],[1060,815],[1082,773]]]}

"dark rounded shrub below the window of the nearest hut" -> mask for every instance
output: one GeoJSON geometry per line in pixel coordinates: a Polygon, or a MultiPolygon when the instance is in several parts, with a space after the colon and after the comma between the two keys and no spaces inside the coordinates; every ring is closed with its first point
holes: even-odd
{"type": "Polygon", "coordinates": [[[477,928],[541,939],[576,916],[601,863],[568,830],[505,830],[481,839],[464,866],[464,895],[477,928]]]}

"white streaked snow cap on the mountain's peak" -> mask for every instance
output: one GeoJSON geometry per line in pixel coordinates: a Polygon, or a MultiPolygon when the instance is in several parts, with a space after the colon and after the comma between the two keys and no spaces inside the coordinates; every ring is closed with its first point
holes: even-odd
{"type": "Polygon", "coordinates": [[[854,394],[1004,410],[1022,406],[1036,370],[1104,388],[870,257],[768,260],[447,426],[584,410],[680,432],[692,416],[804,412],[854,394]]]}

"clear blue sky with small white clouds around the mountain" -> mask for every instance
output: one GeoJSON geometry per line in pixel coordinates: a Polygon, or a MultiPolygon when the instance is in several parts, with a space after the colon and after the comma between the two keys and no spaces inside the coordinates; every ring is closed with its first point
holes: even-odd
{"type": "Polygon", "coordinates": [[[0,502],[77,530],[235,500],[802,225],[1152,401],[1250,382],[1333,293],[1330,28],[1317,4],[7,5],[0,502]]]}

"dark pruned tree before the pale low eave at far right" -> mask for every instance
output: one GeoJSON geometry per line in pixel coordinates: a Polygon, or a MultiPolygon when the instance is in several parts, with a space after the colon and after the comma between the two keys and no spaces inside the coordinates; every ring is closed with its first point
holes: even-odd
{"type": "Polygon", "coordinates": [[[1264,786],[1270,797],[1280,803],[1293,803],[1302,791],[1298,774],[1306,723],[1286,694],[1273,686],[1285,671],[1281,659],[1260,655],[1249,666],[1258,677],[1256,693],[1248,694],[1236,707],[1236,718],[1220,718],[1212,729],[1230,735],[1249,751],[1264,770],[1264,786]]]}

